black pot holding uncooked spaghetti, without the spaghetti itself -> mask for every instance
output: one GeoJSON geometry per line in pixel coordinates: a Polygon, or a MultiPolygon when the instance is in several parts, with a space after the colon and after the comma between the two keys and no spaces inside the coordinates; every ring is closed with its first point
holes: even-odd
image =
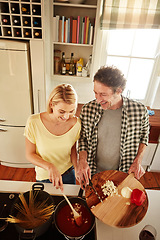
{"type": "MultiPolygon", "coordinates": [[[[38,201],[38,202],[46,201],[46,204],[48,204],[48,206],[50,204],[54,204],[52,196],[50,194],[48,194],[47,192],[43,191],[43,189],[44,189],[44,185],[42,183],[35,183],[32,185],[32,191],[36,195],[35,201],[38,201]]],[[[23,194],[27,203],[29,203],[29,194],[30,194],[30,191],[25,192],[23,194]]],[[[12,209],[11,209],[11,215],[16,217],[18,210],[15,208],[15,204],[21,204],[19,197],[16,199],[16,201],[13,204],[12,209]]],[[[26,229],[25,227],[22,227],[18,223],[14,224],[17,231],[19,232],[19,239],[23,239],[23,238],[27,239],[27,237],[28,237],[28,239],[35,239],[36,237],[42,235],[50,227],[50,225],[52,223],[52,217],[53,217],[53,215],[47,221],[42,223],[41,225],[39,225],[37,227],[33,227],[31,229],[26,229]]]]}

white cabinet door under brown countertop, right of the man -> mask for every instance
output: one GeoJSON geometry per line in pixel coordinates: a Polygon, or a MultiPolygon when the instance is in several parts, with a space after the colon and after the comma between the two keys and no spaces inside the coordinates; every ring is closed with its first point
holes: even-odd
{"type": "Polygon", "coordinates": [[[142,160],[142,166],[150,166],[157,144],[149,143],[142,160]]]}

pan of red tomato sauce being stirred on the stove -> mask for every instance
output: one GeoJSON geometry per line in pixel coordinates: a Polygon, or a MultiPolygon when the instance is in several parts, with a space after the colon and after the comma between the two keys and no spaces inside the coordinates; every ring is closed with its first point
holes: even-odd
{"type": "Polygon", "coordinates": [[[82,193],[83,190],[80,189],[78,197],[69,197],[73,207],[79,209],[77,211],[82,213],[83,224],[81,226],[76,225],[72,210],[65,199],[61,201],[55,209],[55,226],[66,239],[83,239],[95,225],[94,215],[88,208],[86,201],[80,197],[82,193]]]}

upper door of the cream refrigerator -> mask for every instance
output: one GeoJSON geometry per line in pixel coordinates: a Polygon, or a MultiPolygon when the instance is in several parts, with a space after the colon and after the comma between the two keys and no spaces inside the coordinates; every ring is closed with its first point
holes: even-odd
{"type": "MultiPolygon", "coordinates": [[[[17,47],[0,40],[1,45],[17,47]],[[7,45],[8,44],[8,45],[7,45]]],[[[21,45],[20,45],[21,46],[21,45]]],[[[24,44],[25,46],[25,44],[24,44]]],[[[0,50],[0,118],[4,124],[25,126],[32,113],[31,79],[26,51],[0,50]]]]}

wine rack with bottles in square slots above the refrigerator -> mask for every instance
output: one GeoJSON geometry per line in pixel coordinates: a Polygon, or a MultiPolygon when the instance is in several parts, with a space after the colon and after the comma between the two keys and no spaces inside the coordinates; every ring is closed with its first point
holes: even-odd
{"type": "Polygon", "coordinates": [[[0,3],[0,37],[42,39],[43,0],[5,0],[0,3]]]}

